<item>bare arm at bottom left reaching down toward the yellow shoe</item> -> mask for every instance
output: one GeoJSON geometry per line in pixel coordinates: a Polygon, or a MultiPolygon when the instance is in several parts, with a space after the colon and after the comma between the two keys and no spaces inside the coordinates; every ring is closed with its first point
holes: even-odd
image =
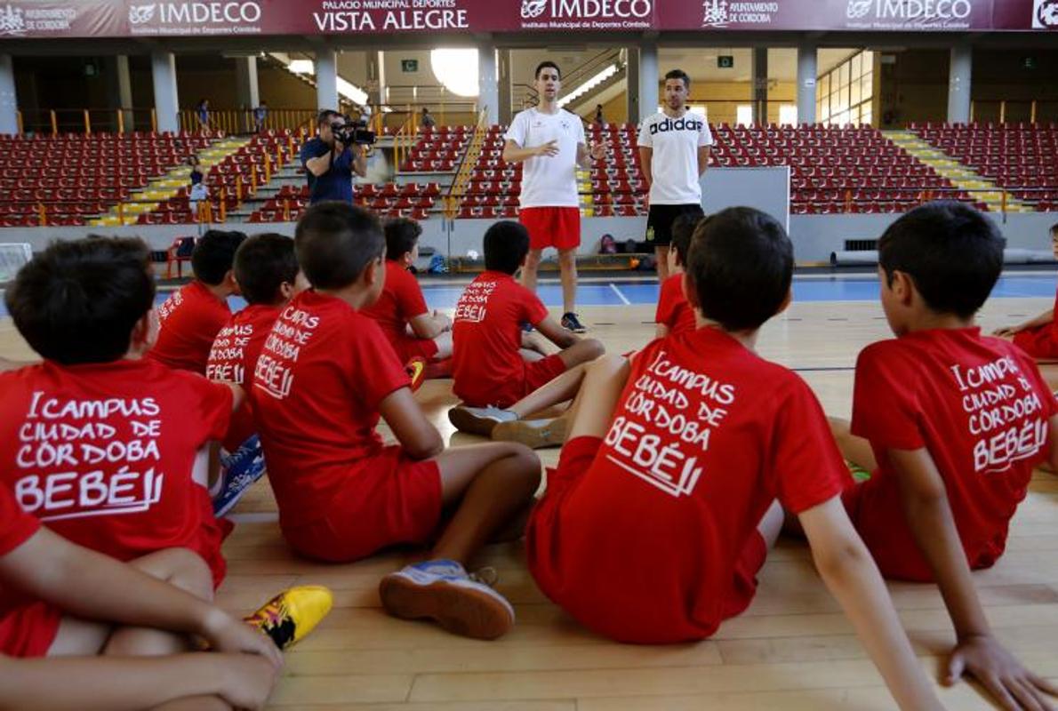
{"type": "Polygon", "coordinates": [[[204,600],[41,528],[0,557],[0,580],[75,617],[201,635],[278,667],[271,640],[204,600]]]}

